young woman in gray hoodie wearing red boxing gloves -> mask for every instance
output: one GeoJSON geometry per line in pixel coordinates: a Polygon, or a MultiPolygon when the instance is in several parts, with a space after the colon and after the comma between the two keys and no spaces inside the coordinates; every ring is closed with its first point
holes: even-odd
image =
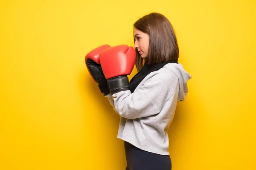
{"type": "Polygon", "coordinates": [[[165,16],[145,15],[133,31],[134,52],[102,45],[87,54],[87,68],[121,116],[117,138],[124,140],[126,170],[171,170],[167,132],[192,77],[177,62],[177,39],[165,16]],[[134,62],[138,73],[128,82],[122,71],[130,74],[134,62]]]}

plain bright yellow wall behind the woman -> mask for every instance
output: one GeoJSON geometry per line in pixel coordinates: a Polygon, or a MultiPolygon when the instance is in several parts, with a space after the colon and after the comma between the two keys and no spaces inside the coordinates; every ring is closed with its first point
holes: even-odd
{"type": "MultiPolygon", "coordinates": [[[[173,170],[256,169],[254,0],[0,2],[0,169],[124,170],[119,116],[84,56],[169,18],[192,75],[169,130],[173,170]],[[99,3],[99,4],[97,4],[99,3]]],[[[136,74],[134,68],[132,76],[136,74]]]]}

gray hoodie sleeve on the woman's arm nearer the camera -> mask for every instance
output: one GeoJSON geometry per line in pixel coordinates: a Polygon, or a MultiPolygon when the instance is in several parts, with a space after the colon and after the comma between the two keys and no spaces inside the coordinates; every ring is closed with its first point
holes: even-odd
{"type": "Polygon", "coordinates": [[[137,119],[160,113],[178,91],[178,79],[172,72],[157,72],[137,88],[132,94],[128,90],[111,96],[113,108],[121,117],[137,119]]]}

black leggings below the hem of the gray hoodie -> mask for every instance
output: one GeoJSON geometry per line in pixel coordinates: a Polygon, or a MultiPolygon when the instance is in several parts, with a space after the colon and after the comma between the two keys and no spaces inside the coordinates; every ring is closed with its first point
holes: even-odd
{"type": "Polygon", "coordinates": [[[125,141],[126,170],[172,170],[169,155],[141,150],[125,141]]]}

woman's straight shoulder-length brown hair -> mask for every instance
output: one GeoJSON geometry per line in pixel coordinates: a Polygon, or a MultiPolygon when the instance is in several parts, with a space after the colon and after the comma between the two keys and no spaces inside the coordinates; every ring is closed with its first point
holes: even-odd
{"type": "MultiPolygon", "coordinates": [[[[167,62],[179,58],[179,47],[170,21],[159,13],[150,13],[134,23],[134,27],[149,35],[148,56],[143,59],[136,49],[136,68],[144,64],[167,62]]],[[[135,42],[135,38],[134,38],[135,42]]]]}

